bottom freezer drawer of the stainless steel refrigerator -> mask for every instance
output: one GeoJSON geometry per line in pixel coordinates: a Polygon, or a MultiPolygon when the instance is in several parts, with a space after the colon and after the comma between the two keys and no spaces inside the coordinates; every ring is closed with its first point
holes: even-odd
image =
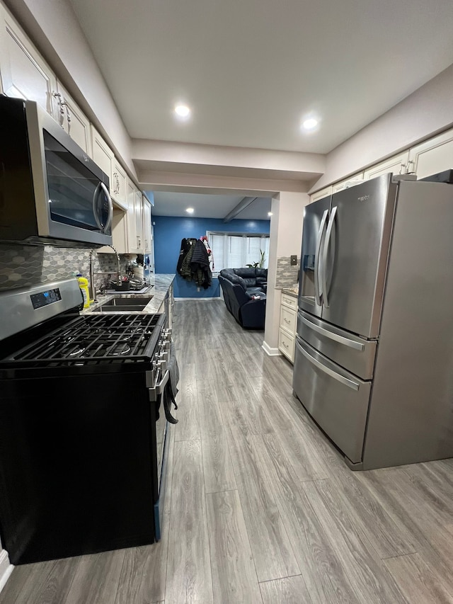
{"type": "Polygon", "coordinates": [[[352,462],[362,461],[371,382],[360,380],[297,338],[292,387],[338,448],[352,462]]]}

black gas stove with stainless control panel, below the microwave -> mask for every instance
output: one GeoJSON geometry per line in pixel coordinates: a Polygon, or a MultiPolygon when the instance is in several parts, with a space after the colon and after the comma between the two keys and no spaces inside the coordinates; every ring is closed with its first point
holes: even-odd
{"type": "Polygon", "coordinates": [[[160,537],[166,317],[79,314],[81,299],[75,278],[0,293],[0,537],[13,564],[160,537]]]}

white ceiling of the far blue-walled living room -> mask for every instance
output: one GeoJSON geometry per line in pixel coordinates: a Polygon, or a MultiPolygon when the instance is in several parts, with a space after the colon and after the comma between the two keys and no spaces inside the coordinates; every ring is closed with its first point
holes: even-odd
{"type": "MultiPolygon", "coordinates": [[[[199,195],[154,191],[154,216],[192,216],[194,218],[224,218],[243,200],[243,195],[199,195]],[[188,214],[186,208],[195,212],[188,214]]],[[[243,220],[270,220],[270,198],[256,198],[237,218],[243,220]]]]}

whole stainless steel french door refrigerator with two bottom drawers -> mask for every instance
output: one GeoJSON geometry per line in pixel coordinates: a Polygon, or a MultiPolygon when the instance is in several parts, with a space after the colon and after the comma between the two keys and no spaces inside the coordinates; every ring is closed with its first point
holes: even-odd
{"type": "Polygon", "coordinates": [[[306,206],[293,390],[352,469],[453,456],[453,186],[306,206]]]}

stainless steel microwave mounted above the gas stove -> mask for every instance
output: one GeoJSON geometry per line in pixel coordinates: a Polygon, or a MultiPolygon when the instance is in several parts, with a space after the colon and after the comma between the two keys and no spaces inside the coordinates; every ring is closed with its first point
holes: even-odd
{"type": "Polygon", "coordinates": [[[0,241],[112,243],[109,179],[34,101],[0,95],[0,241]]]}

